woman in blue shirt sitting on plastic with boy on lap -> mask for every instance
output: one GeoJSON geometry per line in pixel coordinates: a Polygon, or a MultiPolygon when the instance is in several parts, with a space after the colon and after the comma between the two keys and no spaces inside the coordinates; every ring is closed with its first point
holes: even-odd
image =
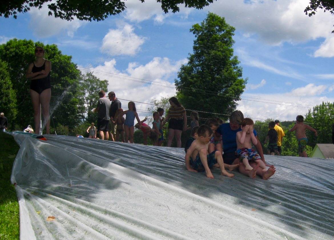
{"type": "MultiPolygon", "coordinates": [[[[229,117],[229,123],[221,124],[218,129],[217,133],[222,135],[223,140],[223,160],[226,164],[238,164],[239,158],[235,156],[236,151],[236,133],[241,131],[240,125],[243,120],[243,114],[239,110],[235,110],[232,112],[232,114],[229,117]]],[[[266,166],[269,167],[268,171],[263,172],[262,168],[259,168],[259,165],[256,162],[250,162],[249,164],[253,167],[253,170],[246,170],[245,166],[243,164],[239,165],[239,172],[242,174],[248,175],[249,177],[255,178],[256,175],[259,175],[262,177],[262,179],[268,179],[272,175],[274,175],[276,169],[274,165],[267,165],[265,161],[265,157],[263,155],[263,150],[261,143],[258,139],[257,133],[254,130],[254,135],[256,139],[258,140],[258,143],[255,145],[255,147],[258,150],[258,153],[262,159],[262,161],[266,164],[266,166]]]]}

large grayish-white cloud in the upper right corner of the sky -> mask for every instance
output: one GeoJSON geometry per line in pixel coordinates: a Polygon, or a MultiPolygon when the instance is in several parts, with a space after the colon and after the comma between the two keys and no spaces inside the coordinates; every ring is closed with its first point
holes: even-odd
{"type": "Polygon", "coordinates": [[[324,44],[316,51],[317,57],[334,55],[332,22],[334,16],[318,11],[308,17],[304,9],[309,0],[244,0],[216,1],[205,10],[225,17],[226,21],[237,30],[246,34],[258,34],[259,38],[271,45],[283,42],[307,42],[319,37],[326,38],[324,44]],[[330,50],[330,53],[326,52],[330,50]]]}

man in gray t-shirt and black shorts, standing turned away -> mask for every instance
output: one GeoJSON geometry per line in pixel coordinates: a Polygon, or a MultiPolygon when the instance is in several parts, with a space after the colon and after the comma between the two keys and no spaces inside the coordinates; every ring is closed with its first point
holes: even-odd
{"type": "Polygon", "coordinates": [[[100,135],[100,139],[108,140],[109,139],[109,109],[110,109],[110,101],[106,97],[106,92],[101,90],[99,92],[99,102],[98,106],[95,108],[95,112],[98,113],[98,132],[100,135]]]}

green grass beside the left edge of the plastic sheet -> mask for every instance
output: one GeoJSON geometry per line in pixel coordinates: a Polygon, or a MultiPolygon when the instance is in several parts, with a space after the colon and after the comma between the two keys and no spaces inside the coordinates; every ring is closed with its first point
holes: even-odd
{"type": "Polygon", "coordinates": [[[19,146],[5,133],[0,133],[0,143],[0,239],[19,239],[19,205],[14,185],[10,183],[19,146]]]}

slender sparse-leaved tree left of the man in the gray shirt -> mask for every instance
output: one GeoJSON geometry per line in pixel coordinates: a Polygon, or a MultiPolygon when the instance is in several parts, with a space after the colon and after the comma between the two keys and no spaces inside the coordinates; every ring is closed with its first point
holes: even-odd
{"type": "Polygon", "coordinates": [[[96,107],[99,100],[99,91],[108,89],[108,81],[100,80],[93,73],[86,73],[86,75],[80,75],[80,87],[79,91],[83,94],[83,101],[85,105],[80,109],[82,121],[95,122],[97,115],[92,113],[92,109],[96,107]],[[86,117],[87,113],[87,117],[86,117]]]}

